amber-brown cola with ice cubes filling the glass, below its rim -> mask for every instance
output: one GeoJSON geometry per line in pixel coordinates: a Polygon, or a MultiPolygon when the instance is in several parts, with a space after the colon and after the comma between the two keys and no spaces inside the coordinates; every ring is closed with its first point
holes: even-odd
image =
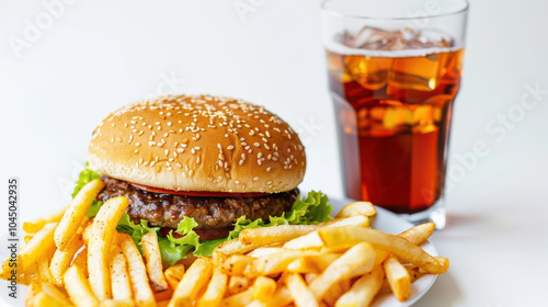
{"type": "Polygon", "coordinates": [[[464,48],[436,31],[372,26],[327,46],[346,194],[396,213],[443,195],[464,48]]]}

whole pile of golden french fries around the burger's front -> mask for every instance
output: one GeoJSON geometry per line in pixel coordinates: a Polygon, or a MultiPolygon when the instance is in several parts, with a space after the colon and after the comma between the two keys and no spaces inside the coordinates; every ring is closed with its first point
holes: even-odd
{"type": "MultiPolygon", "coordinates": [[[[189,252],[163,270],[157,232],[142,236],[141,254],[116,231],[127,198],[83,216],[101,184],[85,185],[65,214],[25,224],[33,235],[20,250],[18,278],[30,284],[26,306],[369,306],[385,291],[404,302],[415,280],[449,268],[419,247],[432,223],[385,234],[368,228],[375,207],[355,202],[318,225],[246,229],[212,259],[189,252]]],[[[0,277],[9,272],[4,261],[0,277]]]]}

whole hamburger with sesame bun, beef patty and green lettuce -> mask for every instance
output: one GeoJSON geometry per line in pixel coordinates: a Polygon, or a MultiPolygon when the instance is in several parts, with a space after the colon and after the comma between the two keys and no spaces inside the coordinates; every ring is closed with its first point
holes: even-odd
{"type": "Polygon", "coordinates": [[[330,219],[324,195],[299,196],[306,155],[298,135],[241,100],[169,95],[122,107],[94,129],[88,162],[75,194],[95,178],[105,183],[88,217],[126,196],[117,230],[138,246],[157,231],[167,265],[210,255],[246,228],[330,219]]]}

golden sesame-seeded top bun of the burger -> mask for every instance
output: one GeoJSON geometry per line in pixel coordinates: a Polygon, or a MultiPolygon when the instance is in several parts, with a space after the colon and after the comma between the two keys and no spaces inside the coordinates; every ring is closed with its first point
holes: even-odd
{"type": "Polygon", "coordinates": [[[122,107],[93,132],[90,168],[103,175],[174,191],[293,190],[306,156],[276,115],[240,100],[169,95],[122,107]]]}

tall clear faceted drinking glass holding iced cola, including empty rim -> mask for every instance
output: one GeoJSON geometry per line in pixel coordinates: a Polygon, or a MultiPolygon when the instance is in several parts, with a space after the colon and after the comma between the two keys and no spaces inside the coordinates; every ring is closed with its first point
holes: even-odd
{"type": "Polygon", "coordinates": [[[346,195],[444,228],[468,3],[328,0],[321,9],[346,195]]]}

